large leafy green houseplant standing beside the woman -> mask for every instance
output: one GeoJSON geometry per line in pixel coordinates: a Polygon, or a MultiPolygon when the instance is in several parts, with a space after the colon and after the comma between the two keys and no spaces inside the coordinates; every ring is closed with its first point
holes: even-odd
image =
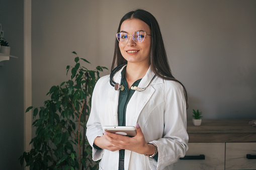
{"type": "MultiPolygon", "coordinates": [[[[30,169],[99,168],[98,162],[92,160],[92,148],[86,138],[82,139],[82,133],[85,133],[83,127],[87,122],[84,112],[89,115],[94,86],[100,71],[107,68],[98,66],[88,70],[80,61],[90,62],[72,53],[76,55],[75,66],[66,67],[67,74],[71,70],[71,79],[52,86],[47,93],[50,99],[43,107],[33,110],[33,126],[36,127],[36,137],[30,142],[33,148],[20,157],[21,165],[25,160],[30,169]]],[[[31,109],[32,106],[26,112],[31,109]]]]}

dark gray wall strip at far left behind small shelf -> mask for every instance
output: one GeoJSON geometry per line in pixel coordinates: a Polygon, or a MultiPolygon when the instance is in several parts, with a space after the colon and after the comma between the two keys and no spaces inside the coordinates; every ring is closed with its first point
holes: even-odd
{"type": "Polygon", "coordinates": [[[0,168],[22,169],[23,153],[23,1],[0,1],[0,23],[11,58],[0,66],[0,168]]]}

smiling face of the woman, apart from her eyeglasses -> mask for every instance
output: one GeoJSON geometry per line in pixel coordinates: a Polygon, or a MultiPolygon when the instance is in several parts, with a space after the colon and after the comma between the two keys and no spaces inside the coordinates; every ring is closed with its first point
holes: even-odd
{"type": "MultiPolygon", "coordinates": [[[[134,32],[144,31],[146,34],[151,34],[149,26],[139,19],[125,20],[120,28],[120,32],[132,35],[134,32]]],[[[142,43],[135,43],[132,36],[126,44],[119,43],[119,48],[122,56],[128,63],[149,64],[151,36],[146,35],[142,43]]]]}

